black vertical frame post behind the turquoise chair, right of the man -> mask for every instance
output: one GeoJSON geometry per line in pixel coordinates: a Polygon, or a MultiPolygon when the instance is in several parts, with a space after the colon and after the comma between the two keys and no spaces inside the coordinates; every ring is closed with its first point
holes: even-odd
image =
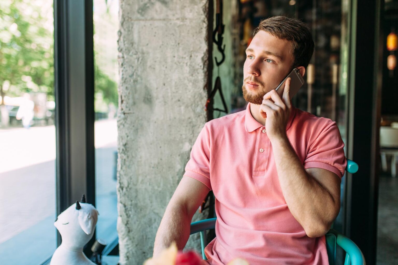
{"type": "Polygon", "coordinates": [[[350,5],[347,157],[359,170],[347,173],[343,232],[367,264],[376,264],[384,1],[350,0],[350,5]]]}

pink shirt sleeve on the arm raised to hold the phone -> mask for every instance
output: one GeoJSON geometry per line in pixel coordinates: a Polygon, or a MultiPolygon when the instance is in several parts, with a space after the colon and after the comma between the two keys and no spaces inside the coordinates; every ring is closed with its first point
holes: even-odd
{"type": "Polygon", "coordinates": [[[344,142],[336,122],[330,122],[325,126],[317,126],[308,143],[309,149],[304,160],[304,168],[323,168],[334,172],[341,178],[347,166],[344,154],[344,142]]]}

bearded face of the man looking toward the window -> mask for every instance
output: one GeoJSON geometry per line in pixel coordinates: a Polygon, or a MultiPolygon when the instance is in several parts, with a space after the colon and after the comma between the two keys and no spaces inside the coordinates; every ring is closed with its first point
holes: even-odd
{"type": "Polygon", "coordinates": [[[261,104],[266,93],[275,89],[291,72],[294,58],[291,42],[259,31],[246,49],[243,66],[243,97],[261,104]]]}

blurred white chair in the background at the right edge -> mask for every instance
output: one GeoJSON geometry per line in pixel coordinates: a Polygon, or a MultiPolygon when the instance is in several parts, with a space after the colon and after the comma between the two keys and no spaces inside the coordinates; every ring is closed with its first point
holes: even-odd
{"type": "Polygon", "coordinates": [[[398,157],[398,123],[390,126],[380,126],[380,156],[383,171],[387,171],[386,155],[392,155],[391,175],[396,177],[396,162],[398,157]]]}

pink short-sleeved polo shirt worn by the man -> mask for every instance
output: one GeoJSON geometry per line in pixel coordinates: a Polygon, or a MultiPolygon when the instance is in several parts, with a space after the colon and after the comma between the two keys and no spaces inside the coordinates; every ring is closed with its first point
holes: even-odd
{"type": "MultiPolygon", "coordinates": [[[[343,176],[347,161],[336,122],[293,107],[286,132],[304,168],[343,176]]],[[[184,176],[205,184],[216,198],[216,238],[205,248],[209,264],[236,257],[251,265],[328,264],[325,236],[306,236],[287,207],[271,142],[250,103],[205,124],[184,176]]]]}

